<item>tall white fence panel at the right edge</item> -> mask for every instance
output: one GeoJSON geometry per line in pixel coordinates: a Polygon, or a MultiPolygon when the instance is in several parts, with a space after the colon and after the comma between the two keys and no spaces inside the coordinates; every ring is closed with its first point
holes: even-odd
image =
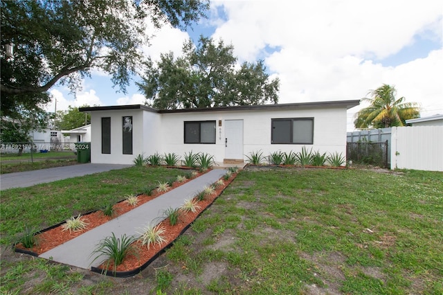
{"type": "Polygon", "coordinates": [[[392,127],[390,168],[443,171],[443,126],[392,127]]]}

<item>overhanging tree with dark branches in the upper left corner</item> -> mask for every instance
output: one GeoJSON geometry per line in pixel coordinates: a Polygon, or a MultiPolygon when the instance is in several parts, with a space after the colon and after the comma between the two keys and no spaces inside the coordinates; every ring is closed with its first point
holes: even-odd
{"type": "Polygon", "coordinates": [[[1,114],[48,102],[60,82],[76,89],[100,69],[125,91],[143,61],[146,21],[185,28],[205,17],[207,0],[0,1],[1,114]],[[14,44],[13,56],[5,51],[14,44]]]}

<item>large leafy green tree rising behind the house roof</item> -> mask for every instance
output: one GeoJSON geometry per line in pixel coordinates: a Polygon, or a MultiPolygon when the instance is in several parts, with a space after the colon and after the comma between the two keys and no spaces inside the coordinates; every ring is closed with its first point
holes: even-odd
{"type": "Polygon", "coordinates": [[[262,60],[235,69],[233,46],[201,36],[183,44],[183,56],[164,53],[147,71],[138,87],[158,109],[262,105],[278,102],[279,80],[269,79],[262,60]]]}

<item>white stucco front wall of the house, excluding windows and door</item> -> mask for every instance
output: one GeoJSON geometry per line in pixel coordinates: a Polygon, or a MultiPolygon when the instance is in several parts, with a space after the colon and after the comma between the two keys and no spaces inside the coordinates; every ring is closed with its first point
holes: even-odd
{"type": "Polygon", "coordinates": [[[251,152],[261,150],[264,156],[271,152],[300,152],[303,146],[313,152],[346,154],[346,109],[255,109],[235,111],[196,111],[159,114],[142,109],[91,111],[91,163],[132,164],[138,154],[145,157],[176,153],[183,158],[190,151],[204,152],[225,159],[225,120],[243,120],[243,159],[251,152]],[[133,117],[133,154],[123,154],[123,116],[133,117]],[[102,154],[101,118],[111,117],[111,154],[102,154]],[[271,144],[271,119],[314,118],[314,144],[271,144]],[[185,144],[184,122],[215,120],[215,144],[185,144]],[[221,127],[219,127],[221,120],[221,127]]]}

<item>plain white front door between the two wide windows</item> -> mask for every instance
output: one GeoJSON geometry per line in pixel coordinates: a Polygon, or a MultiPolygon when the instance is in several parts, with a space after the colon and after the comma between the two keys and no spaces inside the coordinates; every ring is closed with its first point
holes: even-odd
{"type": "Polygon", "coordinates": [[[225,159],[243,160],[243,120],[225,120],[225,159]]]}

